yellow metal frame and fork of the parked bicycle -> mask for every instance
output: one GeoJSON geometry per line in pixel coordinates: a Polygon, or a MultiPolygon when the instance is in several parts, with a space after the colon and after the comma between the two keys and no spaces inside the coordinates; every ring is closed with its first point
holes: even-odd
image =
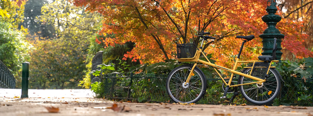
{"type": "MultiPolygon", "coordinates": [[[[203,63],[203,64],[206,64],[206,65],[209,65],[209,66],[212,66],[214,71],[218,74],[218,76],[223,80],[223,82],[229,86],[229,87],[237,87],[237,86],[241,86],[241,85],[249,85],[249,84],[254,84],[254,83],[258,83],[258,84],[262,84],[262,82],[265,82],[266,79],[261,79],[261,78],[258,78],[258,77],[254,77],[254,76],[251,76],[251,72],[253,70],[253,67],[254,67],[254,64],[256,62],[264,62],[264,61],[239,61],[240,59],[240,54],[241,54],[241,51],[243,49],[243,46],[244,46],[244,43],[242,44],[241,48],[240,48],[240,51],[239,51],[239,54],[238,54],[238,57],[236,58],[236,61],[235,61],[235,65],[233,66],[233,69],[228,69],[228,68],[225,68],[223,66],[218,66],[216,64],[213,64],[211,63],[208,58],[206,57],[206,55],[204,55],[204,53],[202,52],[202,45],[203,45],[203,41],[202,40],[202,44],[201,44],[201,47],[199,48],[199,50],[196,51],[196,54],[194,55],[193,58],[181,58],[181,59],[177,59],[179,62],[195,62],[195,64],[192,66],[192,69],[188,75],[188,78],[185,82],[185,84],[189,83],[190,79],[191,79],[191,76],[193,75],[193,70],[194,68],[198,65],[198,63],[203,63]],[[200,60],[200,56],[203,55],[204,58],[206,59],[206,61],[203,61],[203,60],[200,60]],[[242,73],[242,72],[239,72],[239,71],[235,71],[236,68],[237,68],[237,65],[238,63],[253,63],[253,66],[252,67],[244,67],[244,68],[252,68],[249,75],[248,74],[245,74],[245,73],[242,73]],[[221,74],[217,71],[217,69],[222,69],[224,71],[228,71],[228,72],[231,72],[231,76],[230,76],[230,79],[228,81],[228,83],[224,80],[224,78],[221,76],[221,74]],[[231,85],[231,82],[233,80],[233,76],[234,74],[238,74],[238,75],[241,75],[241,76],[245,76],[245,77],[248,77],[250,79],[253,79],[253,80],[256,80],[257,82],[250,82],[250,83],[244,83],[244,84],[237,84],[237,85],[231,85]]],[[[272,64],[272,62],[278,62],[278,60],[275,60],[275,61],[271,61],[270,64],[272,64]]],[[[269,69],[270,68],[275,68],[275,66],[269,66],[268,70],[267,70],[267,73],[269,73],[269,69]]]]}

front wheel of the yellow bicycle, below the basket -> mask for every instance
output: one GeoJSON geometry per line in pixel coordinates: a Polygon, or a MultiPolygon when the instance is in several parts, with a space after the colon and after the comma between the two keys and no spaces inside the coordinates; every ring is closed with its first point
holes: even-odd
{"type": "Polygon", "coordinates": [[[167,77],[167,94],[176,103],[196,103],[206,91],[207,81],[198,67],[194,68],[189,83],[184,85],[191,67],[191,65],[178,66],[167,77]]]}

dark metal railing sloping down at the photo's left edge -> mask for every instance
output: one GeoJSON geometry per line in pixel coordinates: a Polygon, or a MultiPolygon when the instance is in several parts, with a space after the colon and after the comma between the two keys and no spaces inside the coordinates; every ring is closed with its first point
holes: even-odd
{"type": "Polygon", "coordinates": [[[15,78],[2,61],[0,61],[0,88],[15,88],[15,78]]]}

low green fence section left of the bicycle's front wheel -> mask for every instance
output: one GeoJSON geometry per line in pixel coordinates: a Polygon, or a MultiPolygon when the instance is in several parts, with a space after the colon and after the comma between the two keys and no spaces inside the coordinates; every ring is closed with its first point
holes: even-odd
{"type": "Polygon", "coordinates": [[[165,89],[166,75],[111,73],[104,75],[105,98],[169,102],[165,89]]]}

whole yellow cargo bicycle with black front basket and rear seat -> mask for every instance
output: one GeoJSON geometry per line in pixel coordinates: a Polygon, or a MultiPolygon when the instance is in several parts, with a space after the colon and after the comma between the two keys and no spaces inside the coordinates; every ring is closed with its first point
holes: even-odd
{"type": "MultiPolygon", "coordinates": [[[[166,89],[170,98],[178,103],[196,103],[198,102],[206,92],[207,80],[204,73],[197,67],[199,64],[205,64],[211,66],[218,76],[222,79],[225,87],[223,88],[223,97],[226,98],[228,92],[234,91],[234,96],[238,95],[237,87],[243,97],[250,103],[256,105],[264,105],[272,103],[273,100],[280,93],[280,73],[275,69],[275,66],[271,66],[272,63],[278,62],[276,59],[276,38],[273,42],[273,54],[271,56],[261,55],[259,61],[239,61],[240,54],[244,47],[244,43],[254,39],[254,35],[249,36],[236,36],[243,40],[239,54],[236,58],[233,69],[228,69],[223,66],[218,66],[211,63],[206,55],[202,52],[203,42],[208,39],[215,39],[208,36],[209,32],[199,33],[202,40],[201,46],[194,44],[177,44],[177,60],[178,62],[192,62],[192,64],[185,64],[178,66],[171,71],[167,77],[166,89]],[[204,60],[199,59],[203,55],[204,60]],[[239,63],[250,63],[244,67],[241,71],[236,71],[239,63]],[[221,76],[219,70],[228,71],[231,76],[228,81],[221,76]],[[236,78],[234,74],[239,75],[238,84],[234,84],[233,78],[236,78]]],[[[233,97],[234,97],[233,96],[233,97]]],[[[231,98],[231,102],[233,100],[231,98]]],[[[231,103],[230,102],[230,103],[231,103]]]]}

